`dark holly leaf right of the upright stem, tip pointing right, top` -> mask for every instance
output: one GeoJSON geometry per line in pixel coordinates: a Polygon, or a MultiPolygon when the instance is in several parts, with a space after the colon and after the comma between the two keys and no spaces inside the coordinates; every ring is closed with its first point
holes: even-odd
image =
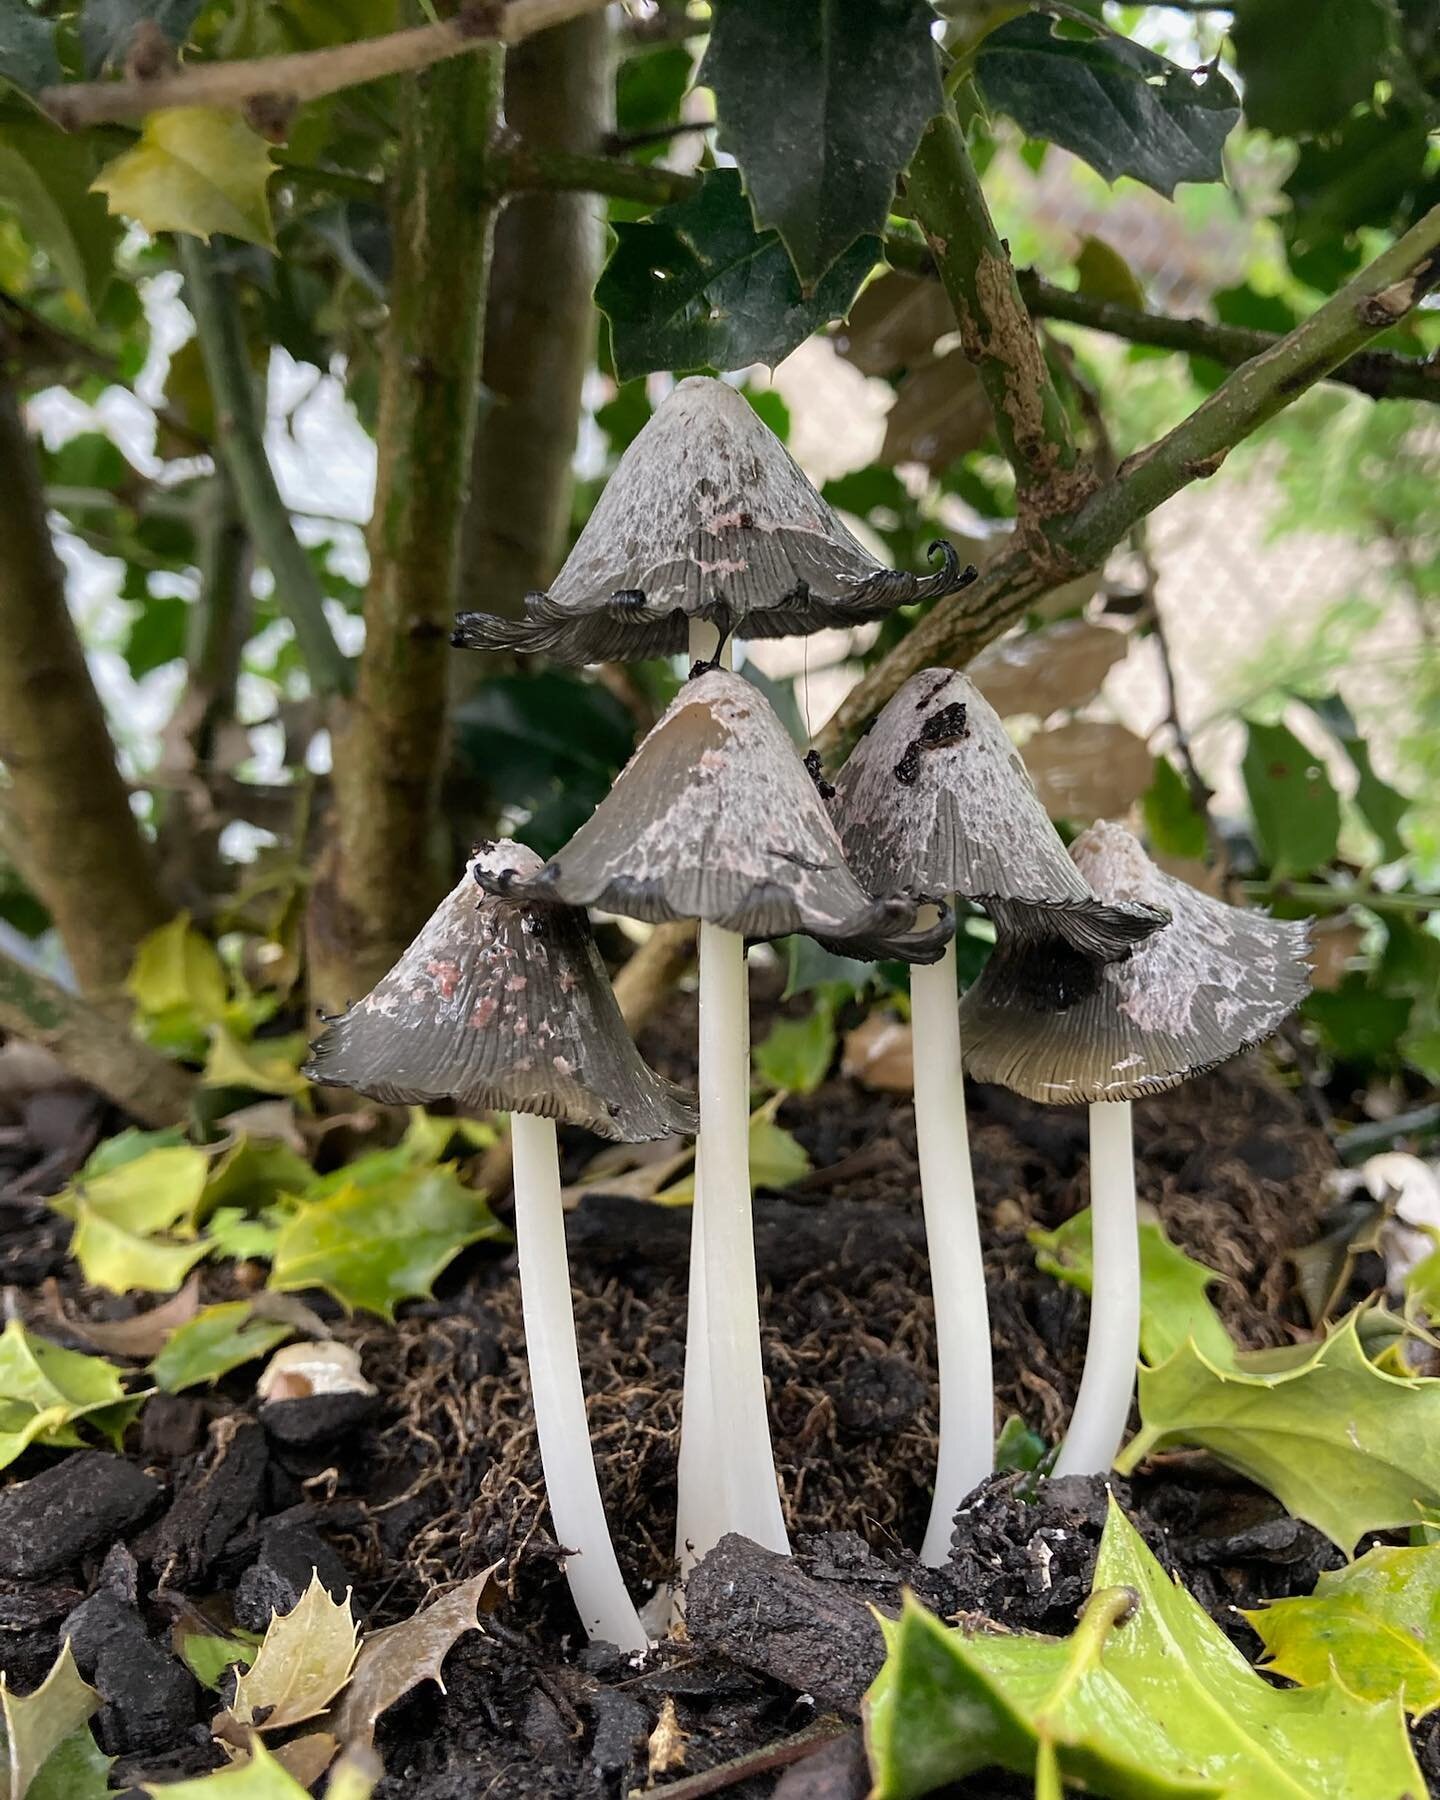
{"type": "Polygon", "coordinates": [[[976,77],[995,112],[1082,157],[1107,182],[1132,175],[1168,200],[1177,182],[1224,178],[1220,148],[1240,97],[1215,67],[1195,79],[1129,38],[1060,36],[1031,13],[990,32],[976,77]]]}

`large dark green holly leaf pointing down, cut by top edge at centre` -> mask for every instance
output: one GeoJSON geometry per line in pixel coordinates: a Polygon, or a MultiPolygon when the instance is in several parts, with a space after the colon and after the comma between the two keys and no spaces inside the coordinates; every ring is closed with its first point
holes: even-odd
{"type": "Polygon", "coordinates": [[[945,104],[932,23],[927,0],[715,0],[697,81],[715,88],[756,227],[779,232],[806,293],[884,230],[945,104]]]}

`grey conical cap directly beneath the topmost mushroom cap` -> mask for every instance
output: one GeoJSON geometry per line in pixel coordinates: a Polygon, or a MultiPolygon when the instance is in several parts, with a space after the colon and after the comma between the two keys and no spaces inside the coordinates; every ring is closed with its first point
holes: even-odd
{"type": "Polygon", "coordinates": [[[949,918],[914,931],[914,900],[860,887],[774,709],[720,668],[686,682],[569,844],[502,886],[747,938],[803,931],[848,956],[932,961],[949,938],[949,918]]]}

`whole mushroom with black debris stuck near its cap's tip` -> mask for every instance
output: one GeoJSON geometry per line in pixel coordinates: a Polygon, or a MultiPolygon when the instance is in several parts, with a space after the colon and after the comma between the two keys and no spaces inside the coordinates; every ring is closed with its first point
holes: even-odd
{"type": "MultiPolygon", "coordinates": [[[[956,895],[1019,916],[1028,940],[1058,941],[1085,965],[1125,958],[1163,923],[1143,905],[1091,893],[1046,817],[999,715],[956,670],[913,675],[835,779],[846,859],[934,902],[956,895]]],[[[940,1453],[922,1557],[941,1564],[961,1499],[995,1458],[990,1318],[965,1129],[954,940],[911,976],[914,1134],[934,1289],[940,1453]]]]}

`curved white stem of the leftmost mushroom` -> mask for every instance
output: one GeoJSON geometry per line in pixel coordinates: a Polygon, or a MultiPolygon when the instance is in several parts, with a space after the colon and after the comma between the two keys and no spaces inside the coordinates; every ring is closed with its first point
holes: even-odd
{"type": "Polygon", "coordinates": [[[554,1535],[565,1550],[574,1552],[565,1562],[565,1579],[589,1636],[623,1651],[643,1651],[650,1640],[616,1561],[590,1451],[554,1120],[513,1112],[509,1143],[515,1157],[515,1247],[520,1256],[535,1435],[540,1440],[540,1467],[554,1535]]]}

